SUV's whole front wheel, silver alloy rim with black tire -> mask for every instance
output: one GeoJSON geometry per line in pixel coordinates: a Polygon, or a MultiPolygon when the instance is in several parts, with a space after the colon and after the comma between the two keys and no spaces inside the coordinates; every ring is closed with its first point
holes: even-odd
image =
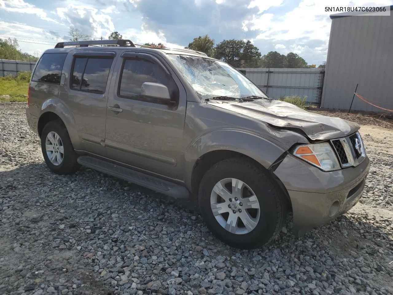
{"type": "Polygon", "coordinates": [[[285,196],[268,172],[248,159],[213,165],[202,178],[198,200],[211,232],[239,249],[265,245],[285,222],[285,196]]]}

